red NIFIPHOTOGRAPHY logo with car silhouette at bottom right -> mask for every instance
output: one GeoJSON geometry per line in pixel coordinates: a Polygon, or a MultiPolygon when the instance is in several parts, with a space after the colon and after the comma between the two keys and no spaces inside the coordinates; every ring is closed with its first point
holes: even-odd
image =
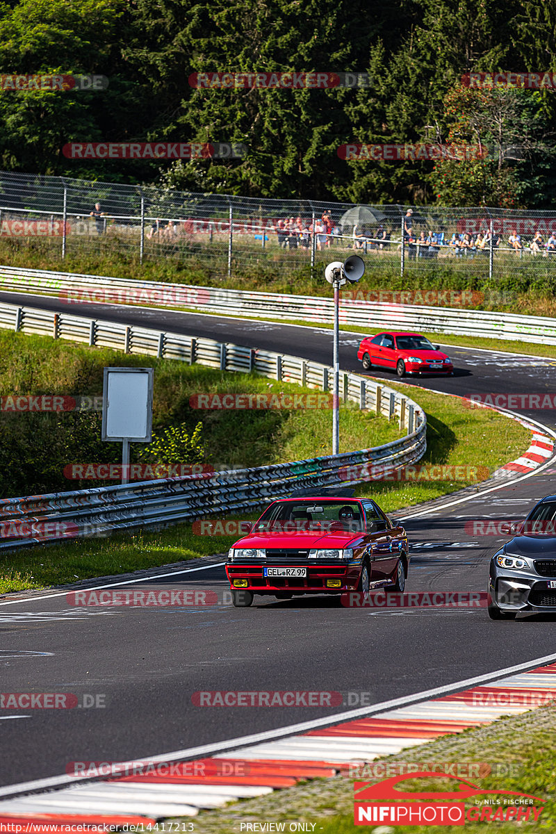
{"type": "Polygon", "coordinates": [[[381,822],[388,826],[463,826],[466,822],[502,821],[520,824],[537,821],[546,801],[518,791],[483,790],[457,776],[432,771],[393,776],[375,783],[356,781],[353,791],[356,826],[376,826],[381,822]],[[398,782],[418,778],[444,778],[459,784],[451,791],[397,790],[398,782]],[[471,797],[473,804],[466,808],[465,800],[471,797]]]}

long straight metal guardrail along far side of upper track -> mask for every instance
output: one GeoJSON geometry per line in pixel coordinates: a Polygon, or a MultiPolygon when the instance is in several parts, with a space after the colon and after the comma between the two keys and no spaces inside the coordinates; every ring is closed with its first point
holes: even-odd
{"type": "MultiPolygon", "coordinates": [[[[169,308],[201,309],[252,318],[297,319],[331,322],[333,299],[309,295],[258,293],[187,284],[131,281],[97,275],[46,272],[0,266],[0,289],[55,295],[68,301],[143,304],[169,308]]],[[[418,329],[429,333],[490,336],[523,342],[556,344],[556,319],[483,310],[425,307],[420,304],[370,304],[341,300],[340,322],[353,327],[389,330],[418,329]]]]}

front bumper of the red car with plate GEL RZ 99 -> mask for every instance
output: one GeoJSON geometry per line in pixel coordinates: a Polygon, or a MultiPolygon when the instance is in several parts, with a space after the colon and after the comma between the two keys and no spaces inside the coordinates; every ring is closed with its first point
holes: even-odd
{"type": "Polygon", "coordinates": [[[341,594],[346,590],[356,590],[361,565],[343,563],[320,565],[263,565],[261,563],[228,562],[226,575],[230,587],[244,588],[255,594],[293,593],[293,594],[341,594]],[[265,576],[264,568],[298,568],[306,569],[305,576],[265,576]],[[236,585],[236,582],[241,585],[236,585]],[[247,585],[243,584],[247,582],[247,585]]]}

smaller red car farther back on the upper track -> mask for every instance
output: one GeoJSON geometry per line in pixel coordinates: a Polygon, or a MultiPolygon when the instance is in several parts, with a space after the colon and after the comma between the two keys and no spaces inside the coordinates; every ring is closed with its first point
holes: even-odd
{"type": "Polygon", "coordinates": [[[452,360],[418,333],[379,333],[366,336],[359,345],[357,358],[363,368],[395,370],[405,374],[453,374],[452,360]]]}

